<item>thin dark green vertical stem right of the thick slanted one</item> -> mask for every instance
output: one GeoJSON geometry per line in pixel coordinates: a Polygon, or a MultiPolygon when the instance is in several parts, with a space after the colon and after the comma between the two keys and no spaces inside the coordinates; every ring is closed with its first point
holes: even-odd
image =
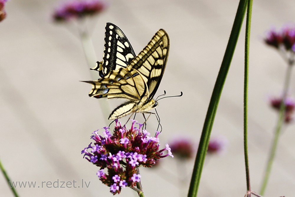
{"type": "MultiPolygon", "coordinates": [[[[248,0],[246,36],[245,36],[245,76],[244,76],[244,155],[247,180],[247,191],[251,191],[248,161],[248,78],[249,78],[249,45],[253,0],[248,0]]],[[[250,196],[251,194],[249,194],[250,196]]]]}

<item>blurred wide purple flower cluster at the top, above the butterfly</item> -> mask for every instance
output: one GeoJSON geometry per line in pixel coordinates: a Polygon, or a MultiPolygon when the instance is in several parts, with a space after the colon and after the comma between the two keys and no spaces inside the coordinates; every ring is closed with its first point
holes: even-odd
{"type": "Polygon", "coordinates": [[[86,16],[98,14],[104,10],[106,4],[99,0],[69,1],[55,9],[53,19],[56,22],[81,19],[86,16]]]}

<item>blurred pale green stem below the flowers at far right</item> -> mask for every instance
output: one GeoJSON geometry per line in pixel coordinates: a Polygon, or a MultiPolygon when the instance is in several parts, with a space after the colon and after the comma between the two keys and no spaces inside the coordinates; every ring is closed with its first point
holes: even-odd
{"type": "Polygon", "coordinates": [[[287,91],[289,89],[292,67],[293,67],[293,61],[288,61],[288,67],[287,67],[286,77],[285,77],[285,82],[284,82],[284,87],[283,87],[283,96],[282,96],[282,99],[281,99],[280,111],[279,111],[279,115],[278,115],[278,121],[277,121],[277,124],[276,124],[275,136],[274,136],[273,143],[272,143],[272,146],[271,146],[271,151],[270,151],[270,154],[269,154],[269,158],[268,158],[268,162],[267,162],[267,166],[266,166],[262,186],[261,186],[261,189],[260,189],[260,195],[262,195],[262,196],[265,193],[266,186],[267,186],[268,179],[269,179],[269,175],[271,173],[271,167],[273,165],[273,160],[275,158],[276,149],[277,149],[277,146],[278,146],[278,139],[279,139],[279,136],[280,136],[280,133],[281,133],[281,128],[282,128],[283,121],[284,121],[285,108],[286,108],[285,100],[286,100],[286,97],[287,97],[287,91]]]}

